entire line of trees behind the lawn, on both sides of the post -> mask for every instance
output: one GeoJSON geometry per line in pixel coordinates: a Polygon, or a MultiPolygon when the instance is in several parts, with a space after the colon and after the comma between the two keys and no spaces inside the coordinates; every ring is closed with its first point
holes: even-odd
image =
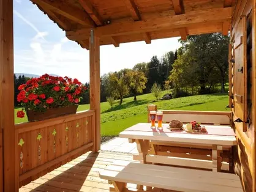
{"type": "MultiPolygon", "coordinates": [[[[161,90],[171,89],[173,97],[209,94],[221,85],[225,91],[228,79],[228,43],[229,37],[220,33],[192,35],[187,40],[179,40],[181,47],[175,52],[169,51],[162,57],[152,56],[151,61],[136,64],[132,69],[124,68],[119,72],[110,72],[100,77],[100,101],[108,101],[111,106],[116,99],[119,104],[125,97],[154,93],[156,99],[161,90]]],[[[14,75],[15,106],[18,86],[28,78],[14,75]]],[[[80,104],[89,103],[88,90],[83,93],[80,104]]]]}

